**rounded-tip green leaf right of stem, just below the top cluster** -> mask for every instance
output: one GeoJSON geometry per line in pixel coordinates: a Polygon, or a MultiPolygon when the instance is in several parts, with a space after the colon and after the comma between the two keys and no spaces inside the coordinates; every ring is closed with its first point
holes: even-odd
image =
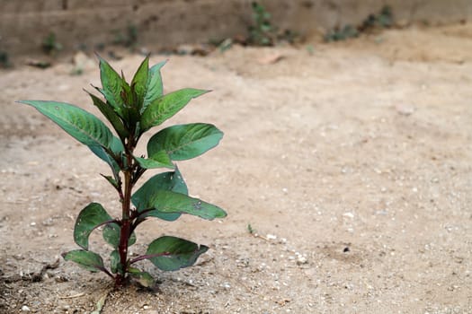
{"type": "Polygon", "coordinates": [[[223,132],[216,126],[205,123],[169,126],[151,137],[147,153],[164,150],[173,161],[185,161],[209,151],[222,137],[223,132]]]}

